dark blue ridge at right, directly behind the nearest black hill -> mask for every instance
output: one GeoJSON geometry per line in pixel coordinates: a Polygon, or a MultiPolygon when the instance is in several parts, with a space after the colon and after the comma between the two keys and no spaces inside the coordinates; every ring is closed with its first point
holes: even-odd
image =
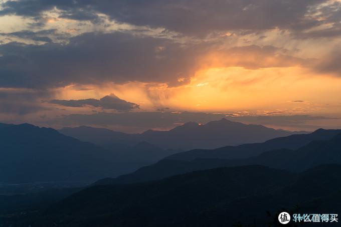
{"type": "MultiPolygon", "coordinates": [[[[194,156],[198,154],[198,150],[189,152],[183,152],[175,155],[171,155],[163,160],[158,161],[155,164],[142,167],[135,172],[118,176],[116,178],[105,178],[96,181],[94,184],[123,184],[123,183],[134,183],[149,180],[157,180],[165,177],[173,176],[176,174],[192,172],[196,170],[217,168],[223,166],[240,166],[240,165],[252,165],[259,164],[270,166],[273,168],[287,169],[291,171],[301,171],[304,169],[312,168],[319,164],[324,163],[340,163],[341,157],[339,155],[341,140],[338,138],[341,136],[339,130],[316,130],[313,133],[306,135],[292,135],[283,138],[276,138],[269,140],[264,143],[257,144],[246,144],[237,147],[225,147],[215,150],[199,150],[199,154],[202,156],[194,156]],[[335,136],[336,134],[336,136],[335,136]],[[314,140],[321,139],[321,140],[314,140]],[[329,139],[329,140],[322,140],[329,139]],[[292,142],[291,142],[292,141],[292,142]],[[299,142],[301,141],[301,142],[299,142]],[[336,142],[338,141],[338,142],[336,142]],[[254,146],[254,147],[253,147],[254,146]],[[302,146],[296,150],[286,149],[287,146],[302,146]],[[231,157],[230,154],[225,154],[230,151],[249,152],[248,149],[255,154],[256,152],[263,153],[258,156],[240,159],[228,159],[231,157]],[[284,148],[283,148],[284,147],[284,148]],[[227,150],[223,150],[226,149],[227,150]],[[266,149],[272,148],[271,151],[266,149]],[[259,150],[256,150],[259,149],[259,150]],[[191,153],[193,152],[193,153],[191,153]],[[210,155],[212,152],[212,155],[210,155]],[[190,153],[189,156],[187,153],[190,153]],[[185,157],[189,160],[176,160],[172,157],[185,157]],[[203,155],[204,154],[204,155],[203,155]],[[218,156],[219,155],[219,156],[218,156]],[[192,158],[195,158],[192,160],[192,158]],[[226,159],[225,159],[226,158],[226,159]]],[[[248,153],[249,155],[249,153],[248,153]]],[[[232,156],[233,157],[233,156],[232,156]]],[[[186,159],[186,158],[183,158],[186,159]]]]}

